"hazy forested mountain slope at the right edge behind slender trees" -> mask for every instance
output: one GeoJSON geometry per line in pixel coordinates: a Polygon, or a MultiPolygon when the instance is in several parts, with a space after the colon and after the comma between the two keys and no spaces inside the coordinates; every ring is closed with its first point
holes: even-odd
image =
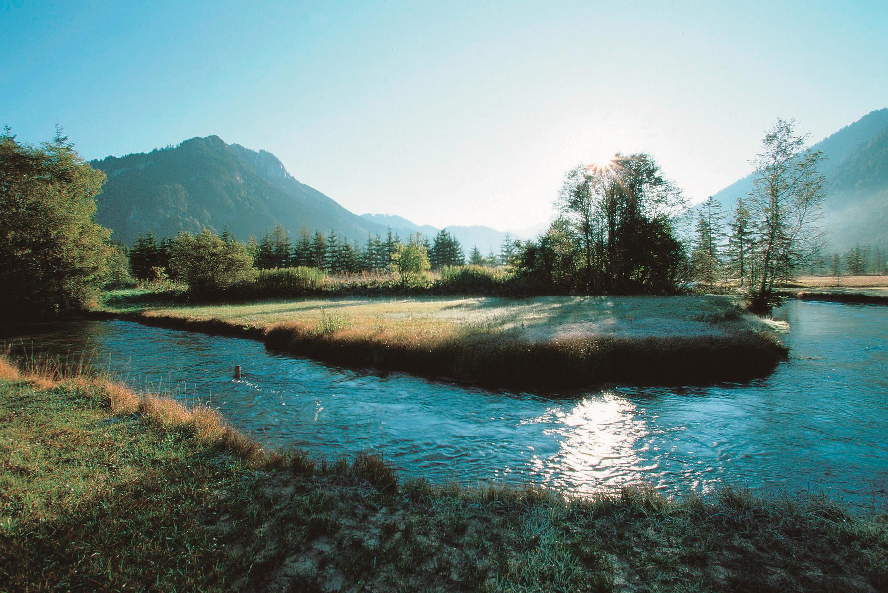
{"type": "MultiPolygon", "coordinates": [[[[829,157],[821,172],[829,182],[823,202],[830,249],[856,243],[888,247],[888,108],[864,115],[813,146],[829,157]]],[[[739,197],[752,190],[752,176],[715,194],[727,218],[739,197]]]]}

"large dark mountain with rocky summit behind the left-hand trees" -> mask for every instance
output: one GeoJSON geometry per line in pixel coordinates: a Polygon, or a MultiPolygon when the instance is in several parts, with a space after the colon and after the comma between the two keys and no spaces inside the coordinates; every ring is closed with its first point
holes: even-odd
{"type": "Polygon", "coordinates": [[[385,233],[385,226],[299,183],[274,154],[228,145],[217,136],[91,165],[107,174],[96,219],[127,243],[148,231],[164,237],[202,228],[227,228],[245,240],[278,223],[294,235],[305,224],[358,241],[385,233]]]}

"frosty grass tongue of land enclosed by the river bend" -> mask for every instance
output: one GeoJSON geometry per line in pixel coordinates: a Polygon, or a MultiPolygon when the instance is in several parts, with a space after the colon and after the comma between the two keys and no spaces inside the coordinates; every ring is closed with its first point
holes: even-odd
{"type": "Polygon", "coordinates": [[[245,336],[343,366],[488,386],[706,384],[773,371],[773,322],[728,297],[413,297],[159,304],[108,294],[97,315],[245,336]]]}

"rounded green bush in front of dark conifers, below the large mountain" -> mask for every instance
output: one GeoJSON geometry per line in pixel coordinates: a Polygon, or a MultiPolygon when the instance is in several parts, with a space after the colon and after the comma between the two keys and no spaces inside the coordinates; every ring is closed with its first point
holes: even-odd
{"type": "Polygon", "coordinates": [[[172,241],[170,273],[195,294],[208,295],[250,278],[255,271],[242,243],[223,241],[204,229],[197,234],[179,233],[172,241]]]}

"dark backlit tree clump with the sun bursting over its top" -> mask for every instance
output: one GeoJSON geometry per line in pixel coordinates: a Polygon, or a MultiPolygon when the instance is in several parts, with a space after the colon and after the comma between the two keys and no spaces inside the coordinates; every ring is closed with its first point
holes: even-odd
{"type": "Polygon", "coordinates": [[[686,256],[672,219],[684,198],[649,155],[618,155],[607,168],[576,167],[556,205],[562,217],[516,257],[520,276],[593,294],[678,288],[686,256]]]}

